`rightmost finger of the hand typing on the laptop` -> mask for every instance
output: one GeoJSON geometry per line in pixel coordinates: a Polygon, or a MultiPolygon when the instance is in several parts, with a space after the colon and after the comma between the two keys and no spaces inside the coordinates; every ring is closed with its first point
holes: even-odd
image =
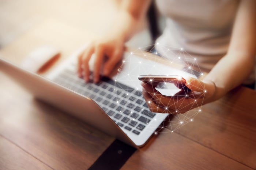
{"type": "Polygon", "coordinates": [[[104,64],[103,75],[108,76],[114,66],[120,61],[123,54],[123,50],[117,50],[114,52],[113,56],[109,56],[108,61],[104,64]]]}

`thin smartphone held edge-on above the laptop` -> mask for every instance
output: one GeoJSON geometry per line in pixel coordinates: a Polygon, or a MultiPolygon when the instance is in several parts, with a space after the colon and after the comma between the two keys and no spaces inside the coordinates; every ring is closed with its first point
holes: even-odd
{"type": "Polygon", "coordinates": [[[173,83],[178,88],[187,90],[186,79],[179,75],[139,75],[138,79],[153,86],[162,86],[163,83],[173,83]]]}

